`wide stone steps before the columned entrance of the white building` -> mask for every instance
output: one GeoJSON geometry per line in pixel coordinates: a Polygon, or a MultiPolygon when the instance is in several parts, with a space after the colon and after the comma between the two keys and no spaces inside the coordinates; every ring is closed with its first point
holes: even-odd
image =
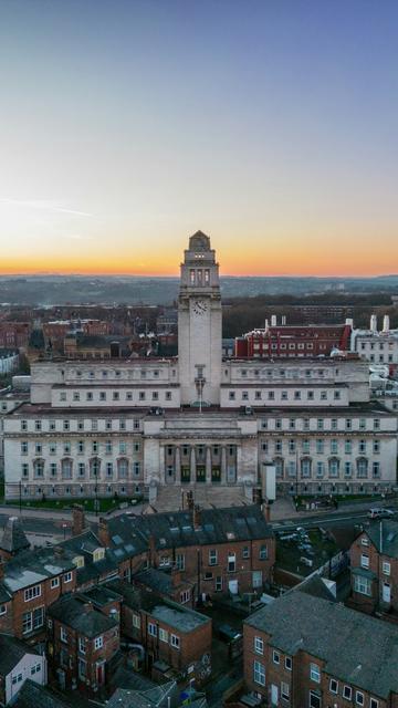
{"type": "Polygon", "coordinates": [[[239,507],[248,504],[242,485],[235,487],[187,485],[185,487],[161,487],[158,489],[156,501],[153,503],[157,511],[176,511],[181,509],[182,491],[192,491],[195,503],[201,508],[239,507]]]}

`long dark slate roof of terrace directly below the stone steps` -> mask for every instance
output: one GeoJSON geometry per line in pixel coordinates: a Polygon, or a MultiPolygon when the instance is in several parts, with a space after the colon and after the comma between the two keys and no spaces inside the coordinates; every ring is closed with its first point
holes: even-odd
{"type": "Polygon", "coordinates": [[[256,504],[201,509],[200,527],[197,529],[193,528],[192,516],[192,511],[177,511],[114,517],[107,520],[111,548],[121,561],[145,552],[150,537],[155,539],[158,550],[273,537],[271,525],[256,504]]]}

